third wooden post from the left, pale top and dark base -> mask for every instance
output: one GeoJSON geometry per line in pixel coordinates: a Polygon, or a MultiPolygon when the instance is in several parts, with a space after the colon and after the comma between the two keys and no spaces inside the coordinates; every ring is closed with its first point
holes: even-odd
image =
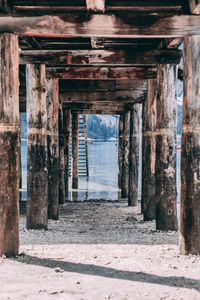
{"type": "Polygon", "coordinates": [[[47,80],[48,218],[59,218],[58,80],[47,80]]]}

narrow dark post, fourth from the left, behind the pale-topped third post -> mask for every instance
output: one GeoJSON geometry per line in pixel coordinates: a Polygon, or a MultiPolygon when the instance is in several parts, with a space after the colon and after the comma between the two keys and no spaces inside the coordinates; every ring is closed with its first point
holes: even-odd
{"type": "Polygon", "coordinates": [[[59,102],[59,204],[65,203],[65,149],[64,149],[64,124],[63,124],[63,104],[59,102]]]}

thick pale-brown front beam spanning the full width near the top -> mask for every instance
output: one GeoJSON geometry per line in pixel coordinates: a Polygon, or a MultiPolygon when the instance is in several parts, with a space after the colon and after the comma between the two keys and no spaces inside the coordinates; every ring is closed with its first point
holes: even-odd
{"type": "Polygon", "coordinates": [[[51,37],[170,38],[200,32],[200,17],[140,14],[65,14],[63,16],[0,17],[0,33],[51,37]]]}

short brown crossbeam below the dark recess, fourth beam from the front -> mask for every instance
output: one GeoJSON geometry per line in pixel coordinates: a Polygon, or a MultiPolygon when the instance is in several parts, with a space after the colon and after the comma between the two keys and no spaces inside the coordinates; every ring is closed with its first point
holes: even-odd
{"type": "Polygon", "coordinates": [[[123,92],[65,92],[60,93],[60,99],[64,103],[105,103],[112,105],[118,103],[136,103],[145,100],[145,90],[123,91],[123,92]]]}

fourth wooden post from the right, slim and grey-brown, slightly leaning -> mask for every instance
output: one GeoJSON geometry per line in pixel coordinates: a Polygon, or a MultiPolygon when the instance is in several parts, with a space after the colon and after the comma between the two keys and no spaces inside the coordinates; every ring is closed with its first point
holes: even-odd
{"type": "Polygon", "coordinates": [[[137,206],[138,202],[138,168],[139,168],[139,110],[136,103],[130,110],[130,146],[129,146],[129,191],[128,205],[137,206]]]}

